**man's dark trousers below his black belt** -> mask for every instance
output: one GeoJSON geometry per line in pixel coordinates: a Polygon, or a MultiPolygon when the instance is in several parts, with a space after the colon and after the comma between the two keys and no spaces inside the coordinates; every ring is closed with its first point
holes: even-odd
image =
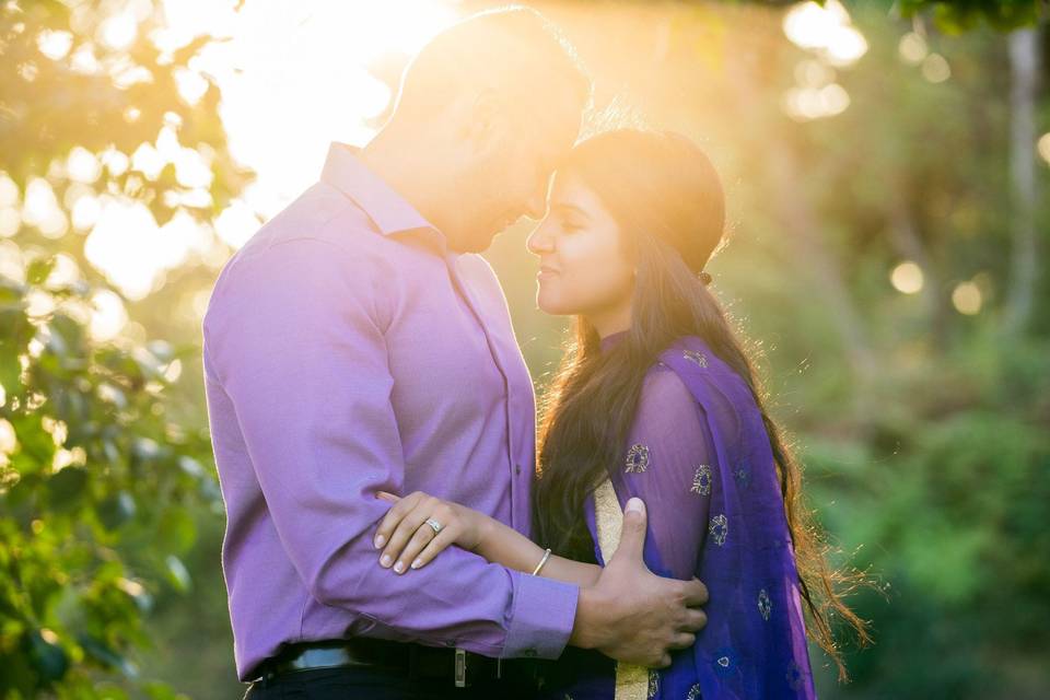
{"type": "Polygon", "coordinates": [[[412,680],[400,672],[375,666],[343,666],[282,674],[259,680],[244,700],[532,700],[536,691],[510,680],[456,688],[433,680],[412,680]]]}

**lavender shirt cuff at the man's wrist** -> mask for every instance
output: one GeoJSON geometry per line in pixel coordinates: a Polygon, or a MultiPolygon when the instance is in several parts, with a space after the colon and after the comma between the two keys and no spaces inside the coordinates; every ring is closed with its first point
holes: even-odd
{"type": "Polygon", "coordinates": [[[580,588],[512,571],[514,604],[502,658],[558,658],[576,619],[580,588]]]}

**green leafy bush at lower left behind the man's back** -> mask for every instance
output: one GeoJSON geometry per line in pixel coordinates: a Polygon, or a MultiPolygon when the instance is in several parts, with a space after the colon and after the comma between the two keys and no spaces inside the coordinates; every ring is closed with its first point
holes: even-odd
{"type": "Polygon", "coordinates": [[[207,436],[167,416],[166,373],[196,349],[92,341],[90,288],[51,285],[48,267],[0,279],[0,430],[16,440],[0,467],[0,692],[95,697],[100,670],[137,678],[143,617],[163,585],[189,588],[190,513],[219,493],[207,436]],[[31,316],[40,295],[55,311],[31,316]]]}

